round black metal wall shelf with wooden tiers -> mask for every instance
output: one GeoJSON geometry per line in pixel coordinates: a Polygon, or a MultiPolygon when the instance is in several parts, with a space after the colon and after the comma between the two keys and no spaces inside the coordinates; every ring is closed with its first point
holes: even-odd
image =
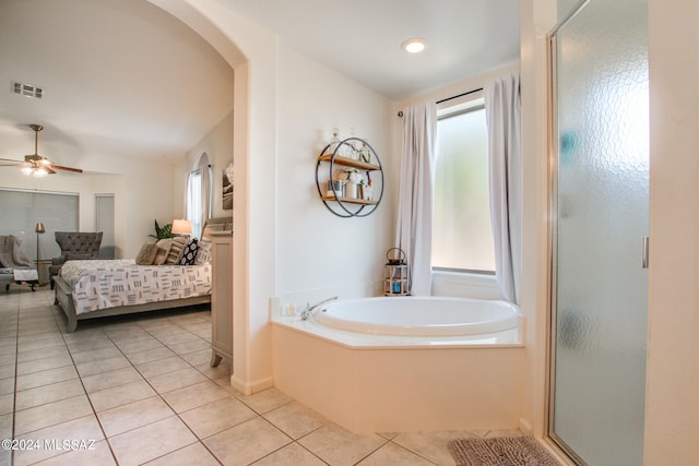
{"type": "Polygon", "coordinates": [[[383,198],[383,167],[379,156],[368,142],[359,138],[328,144],[318,156],[316,164],[316,187],[325,207],[339,217],[366,217],[377,210],[383,198]],[[328,170],[325,171],[325,167],[328,170]],[[371,180],[372,195],[344,195],[340,189],[328,187],[334,180],[335,170],[356,170],[371,180]],[[328,189],[328,188],[330,189],[328,189]]]}

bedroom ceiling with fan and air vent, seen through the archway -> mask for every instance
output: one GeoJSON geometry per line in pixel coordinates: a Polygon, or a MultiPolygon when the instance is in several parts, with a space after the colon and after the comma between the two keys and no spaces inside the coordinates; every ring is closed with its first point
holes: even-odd
{"type": "Polygon", "coordinates": [[[233,70],[144,0],[0,1],[0,157],[181,157],[233,109],[233,70]],[[37,85],[44,97],[10,92],[37,85]]]}

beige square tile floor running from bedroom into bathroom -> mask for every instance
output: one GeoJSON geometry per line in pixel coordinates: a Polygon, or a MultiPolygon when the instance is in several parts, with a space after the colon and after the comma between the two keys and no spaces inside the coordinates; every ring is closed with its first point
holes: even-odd
{"type": "Polygon", "coordinates": [[[206,310],[66,333],[52,302],[0,290],[0,439],[22,446],[0,465],[453,465],[452,438],[518,433],[355,434],[275,389],[233,390],[229,366],[209,366],[206,310]]]}

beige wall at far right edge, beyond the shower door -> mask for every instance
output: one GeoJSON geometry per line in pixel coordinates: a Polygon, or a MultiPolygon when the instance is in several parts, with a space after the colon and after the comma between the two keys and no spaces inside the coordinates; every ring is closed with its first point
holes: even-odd
{"type": "Polygon", "coordinates": [[[699,464],[699,5],[649,0],[645,464],[699,464]]]}

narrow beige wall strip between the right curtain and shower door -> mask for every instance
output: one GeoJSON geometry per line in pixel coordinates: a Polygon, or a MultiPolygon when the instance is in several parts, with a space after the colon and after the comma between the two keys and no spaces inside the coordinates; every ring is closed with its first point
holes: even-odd
{"type": "Polygon", "coordinates": [[[548,374],[548,70],[546,37],[556,25],[557,0],[520,2],[522,85],[522,288],[525,372],[520,427],[546,429],[548,374]]]}

